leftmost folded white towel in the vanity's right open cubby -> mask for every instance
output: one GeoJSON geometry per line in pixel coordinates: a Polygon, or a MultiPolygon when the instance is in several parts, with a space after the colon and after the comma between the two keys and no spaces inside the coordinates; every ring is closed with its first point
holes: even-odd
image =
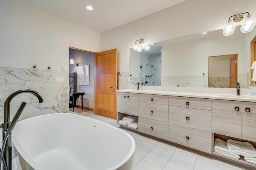
{"type": "Polygon", "coordinates": [[[229,156],[231,158],[239,159],[239,154],[234,154],[233,152],[230,152],[227,147],[227,142],[221,140],[220,138],[214,139],[214,152],[223,154],[225,156],[229,156]]]}

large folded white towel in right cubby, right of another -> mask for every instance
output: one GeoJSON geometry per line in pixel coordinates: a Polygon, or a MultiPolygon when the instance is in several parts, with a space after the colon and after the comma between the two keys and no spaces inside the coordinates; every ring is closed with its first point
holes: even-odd
{"type": "Polygon", "coordinates": [[[249,142],[235,141],[233,139],[227,140],[228,149],[235,153],[246,157],[256,157],[256,149],[249,142]]]}

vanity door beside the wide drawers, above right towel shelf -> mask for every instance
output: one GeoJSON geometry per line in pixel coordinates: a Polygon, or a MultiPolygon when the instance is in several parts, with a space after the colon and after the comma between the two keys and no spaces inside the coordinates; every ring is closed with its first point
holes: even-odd
{"type": "Polygon", "coordinates": [[[212,132],[242,139],[242,102],[212,100],[212,132]]]}

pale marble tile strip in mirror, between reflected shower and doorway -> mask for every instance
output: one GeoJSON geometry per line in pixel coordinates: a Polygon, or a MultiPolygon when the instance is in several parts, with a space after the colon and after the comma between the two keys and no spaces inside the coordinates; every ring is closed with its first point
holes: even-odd
{"type": "Polygon", "coordinates": [[[208,76],[165,76],[162,86],[208,87],[208,76]]]}

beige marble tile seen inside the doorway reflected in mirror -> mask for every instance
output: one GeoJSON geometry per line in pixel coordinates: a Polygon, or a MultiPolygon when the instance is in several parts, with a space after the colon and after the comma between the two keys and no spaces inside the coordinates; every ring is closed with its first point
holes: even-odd
{"type": "Polygon", "coordinates": [[[230,88],[229,77],[210,77],[209,87],[230,88]]]}

